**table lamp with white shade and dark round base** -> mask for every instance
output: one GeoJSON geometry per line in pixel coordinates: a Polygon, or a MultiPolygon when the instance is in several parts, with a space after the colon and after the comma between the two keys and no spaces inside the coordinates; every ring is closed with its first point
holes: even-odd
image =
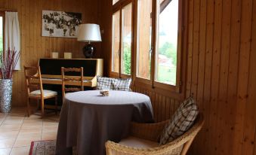
{"type": "Polygon", "coordinates": [[[91,42],[101,41],[100,26],[92,23],[79,25],[77,41],[88,42],[82,50],[85,58],[92,58],[96,49],[91,42]]]}

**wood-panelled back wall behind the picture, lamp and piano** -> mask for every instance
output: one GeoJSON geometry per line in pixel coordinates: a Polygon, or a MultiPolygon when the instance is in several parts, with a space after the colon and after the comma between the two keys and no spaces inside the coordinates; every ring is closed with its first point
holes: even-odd
{"type": "MultiPolygon", "coordinates": [[[[42,37],[42,10],[70,11],[82,13],[82,23],[99,23],[100,0],[1,0],[1,10],[17,11],[20,22],[21,66],[37,65],[39,58],[50,57],[51,52],[72,52],[73,58],[85,58],[82,47],[76,38],[42,37]]],[[[96,57],[100,55],[100,44],[96,57]]],[[[23,69],[15,71],[13,86],[14,106],[26,105],[26,91],[23,69]]]]}

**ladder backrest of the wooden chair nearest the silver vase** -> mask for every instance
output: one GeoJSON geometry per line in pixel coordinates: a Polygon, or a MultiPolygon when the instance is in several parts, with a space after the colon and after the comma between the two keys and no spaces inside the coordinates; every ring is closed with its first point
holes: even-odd
{"type": "Polygon", "coordinates": [[[33,88],[33,90],[40,90],[41,98],[43,98],[44,91],[43,91],[43,87],[42,87],[42,76],[41,76],[40,66],[37,66],[37,67],[23,66],[23,67],[24,67],[24,74],[25,74],[26,88],[27,88],[28,96],[29,96],[29,93],[31,93],[31,88],[33,88]],[[31,72],[36,73],[36,74],[31,74],[31,72]],[[32,83],[31,82],[32,79],[35,79],[38,82],[32,83]]]}

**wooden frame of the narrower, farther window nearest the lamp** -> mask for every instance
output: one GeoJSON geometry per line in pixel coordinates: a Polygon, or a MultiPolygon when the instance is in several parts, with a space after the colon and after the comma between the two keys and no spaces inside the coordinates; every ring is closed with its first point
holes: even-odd
{"type": "MultiPolygon", "coordinates": [[[[119,13],[119,72],[112,71],[112,58],[113,58],[113,51],[111,50],[111,69],[110,69],[110,76],[113,78],[131,78],[133,75],[133,56],[134,56],[134,0],[119,0],[119,2],[116,2],[115,5],[113,5],[112,9],[112,17],[111,17],[111,29],[113,30],[113,14],[115,14],[117,11],[120,11],[119,13]],[[125,8],[127,5],[131,4],[131,74],[122,74],[122,14],[123,14],[123,8],[125,8]]],[[[113,46],[113,32],[111,33],[111,47],[113,46]]]]}

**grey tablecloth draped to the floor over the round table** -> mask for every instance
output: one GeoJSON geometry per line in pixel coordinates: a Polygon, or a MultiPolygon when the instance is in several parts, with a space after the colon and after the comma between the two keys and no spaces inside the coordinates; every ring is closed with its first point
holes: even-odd
{"type": "Polygon", "coordinates": [[[131,120],[153,122],[150,98],[140,93],[97,90],[67,93],[61,109],[56,153],[105,154],[107,140],[120,141],[129,134],[131,120]]]}

